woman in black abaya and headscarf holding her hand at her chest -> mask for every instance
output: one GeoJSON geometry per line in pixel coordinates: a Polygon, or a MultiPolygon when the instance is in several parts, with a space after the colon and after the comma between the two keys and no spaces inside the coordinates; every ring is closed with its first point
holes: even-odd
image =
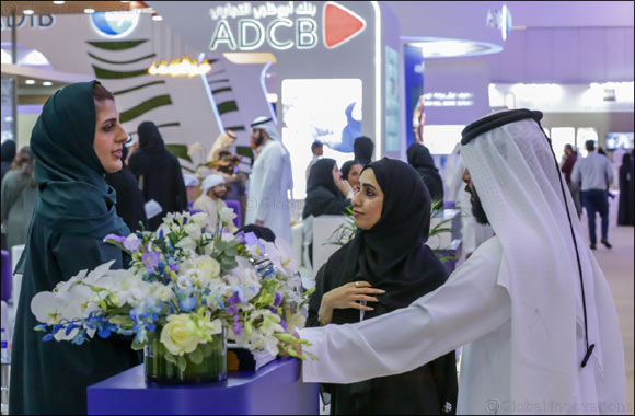
{"type": "MultiPolygon", "coordinates": [[[[447,279],[425,245],[431,203],[417,172],[384,158],[365,167],[360,186],[353,200],[357,234],[318,273],[307,326],[355,323],[405,308],[447,279]]],[[[454,353],[403,374],[324,388],[335,415],[453,414],[454,353]]]]}

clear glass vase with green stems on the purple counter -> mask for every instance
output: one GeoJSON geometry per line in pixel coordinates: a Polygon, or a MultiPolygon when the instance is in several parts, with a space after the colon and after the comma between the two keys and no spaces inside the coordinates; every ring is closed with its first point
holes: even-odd
{"type": "Polygon", "coordinates": [[[162,327],[148,335],[143,350],[146,380],[164,384],[209,383],[227,379],[227,328],[211,342],[183,356],[172,355],[161,344],[162,327]]]}

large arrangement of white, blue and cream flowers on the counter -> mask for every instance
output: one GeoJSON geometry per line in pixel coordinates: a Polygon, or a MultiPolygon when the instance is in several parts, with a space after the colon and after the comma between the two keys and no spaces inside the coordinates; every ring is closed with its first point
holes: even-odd
{"type": "Polygon", "coordinates": [[[170,213],[155,232],[107,235],[130,255],[130,267],[113,270],[113,261],[37,293],[35,330],[43,340],[73,344],[95,334],[131,336],[134,349],[159,340],[182,371],[223,331],[239,346],[305,359],[308,343],[291,334],[304,324],[310,292],[300,292],[290,250],[227,233],[234,216],[220,209],[210,230],[205,213],[170,213]]]}

